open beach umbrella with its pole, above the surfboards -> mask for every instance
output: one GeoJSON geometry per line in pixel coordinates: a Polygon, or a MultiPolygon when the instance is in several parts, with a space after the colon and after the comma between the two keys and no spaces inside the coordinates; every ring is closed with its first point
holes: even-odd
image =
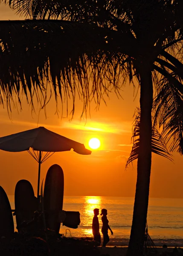
{"type": "Polygon", "coordinates": [[[41,163],[55,152],[70,151],[73,149],[78,154],[88,155],[91,151],[84,144],[70,140],[44,127],[18,132],[0,137],[0,149],[10,152],[28,151],[38,161],[38,196],[40,187],[41,163]],[[32,148],[32,151],[30,149],[32,148]],[[46,154],[43,156],[43,152],[46,154]]]}

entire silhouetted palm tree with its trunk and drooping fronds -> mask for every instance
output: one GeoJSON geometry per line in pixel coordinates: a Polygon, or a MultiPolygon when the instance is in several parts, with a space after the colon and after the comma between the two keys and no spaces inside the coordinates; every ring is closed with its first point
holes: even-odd
{"type": "Polygon", "coordinates": [[[138,158],[137,185],[127,254],[142,256],[151,154],[167,156],[156,127],[163,125],[168,139],[177,138],[171,149],[183,141],[183,1],[11,0],[9,4],[32,20],[0,21],[1,102],[10,106],[15,95],[21,102],[21,91],[40,100],[40,89],[45,105],[49,87],[44,82],[51,81],[56,100],[58,93],[63,101],[72,97],[74,111],[78,93],[85,111],[91,99],[99,104],[103,93],[112,89],[118,93],[121,76],[139,82],[140,114],[129,159],[138,158]]]}

